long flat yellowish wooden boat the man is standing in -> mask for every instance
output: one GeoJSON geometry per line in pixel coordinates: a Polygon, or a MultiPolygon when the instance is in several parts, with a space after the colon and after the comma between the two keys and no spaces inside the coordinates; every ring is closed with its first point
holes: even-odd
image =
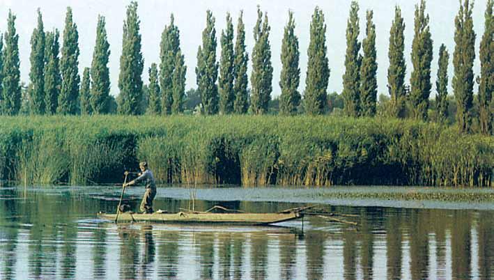
{"type": "MultiPolygon", "coordinates": [[[[100,219],[115,221],[116,214],[98,213],[100,219]]],[[[149,222],[168,224],[229,224],[239,226],[262,226],[281,223],[303,217],[300,211],[279,213],[213,213],[213,212],[155,212],[153,214],[133,214],[124,212],[118,215],[118,222],[149,222]]]]}

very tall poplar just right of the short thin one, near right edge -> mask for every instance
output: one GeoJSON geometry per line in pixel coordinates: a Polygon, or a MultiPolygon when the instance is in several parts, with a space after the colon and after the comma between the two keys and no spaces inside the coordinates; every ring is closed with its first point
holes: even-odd
{"type": "Polygon", "coordinates": [[[473,3],[468,0],[460,4],[454,19],[454,76],[452,79],[456,98],[456,120],[460,132],[469,132],[472,124],[473,61],[475,59],[475,32],[472,20],[473,3]]]}

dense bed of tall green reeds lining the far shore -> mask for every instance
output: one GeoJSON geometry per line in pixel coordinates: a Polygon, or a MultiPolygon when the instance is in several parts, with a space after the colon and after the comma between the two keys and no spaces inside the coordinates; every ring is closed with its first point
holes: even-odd
{"type": "Polygon", "coordinates": [[[412,120],[328,116],[0,117],[0,178],[160,183],[491,187],[494,137],[412,120]]]}

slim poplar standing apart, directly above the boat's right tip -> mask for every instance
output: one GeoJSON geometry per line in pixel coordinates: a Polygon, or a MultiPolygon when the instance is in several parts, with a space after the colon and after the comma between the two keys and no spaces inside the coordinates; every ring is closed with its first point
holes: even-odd
{"type": "Polygon", "coordinates": [[[288,11],[288,22],[285,26],[283,41],[281,42],[281,74],[279,77],[279,87],[281,96],[279,97],[279,113],[291,116],[297,114],[297,107],[300,104],[300,93],[298,84],[300,83],[300,67],[298,61],[300,52],[298,50],[298,38],[295,35],[295,20],[293,12],[288,11]]]}

